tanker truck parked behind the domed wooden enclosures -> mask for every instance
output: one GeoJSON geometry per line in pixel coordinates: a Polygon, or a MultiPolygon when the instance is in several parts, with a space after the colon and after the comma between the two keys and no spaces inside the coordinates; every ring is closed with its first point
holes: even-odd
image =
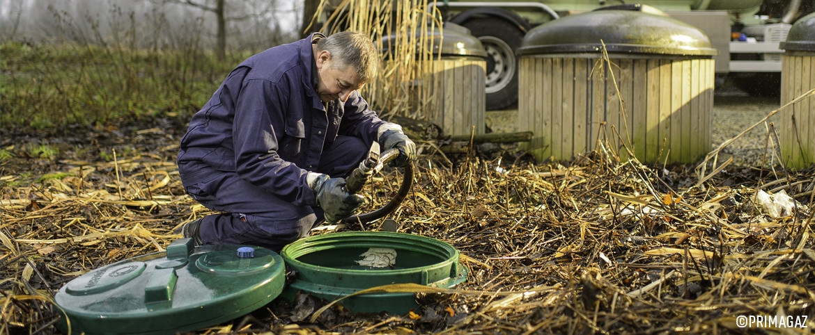
{"type": "MultiPolygon", "coordinates": [[[[815,10],[815,0],[641,0],[699,28],[719,50],[717,80],[728,79],[749,94],[778,94],[779,42],[796,19],[815,10]]],[[[566,15],[623,0],[430,1],[428,10],[443,21],[469,28],[487,50],[487,109],[500,110],[518,101],[515,50],[532,28],[566,15]],[[437,11],[438,10],[438,11],[437,11]]]]}

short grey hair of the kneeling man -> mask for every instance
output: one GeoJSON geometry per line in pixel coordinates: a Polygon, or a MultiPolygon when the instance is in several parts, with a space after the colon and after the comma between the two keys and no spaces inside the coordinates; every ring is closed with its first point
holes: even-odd
{"type": "Polygon", "coordinates": [[[377,76],[379,54],[371,37],[357,32],[340,32],[317,41],[317,51],[331,53],[332,67],[345,69],[355,67],[362,83],[369,83],[377,76]]]}

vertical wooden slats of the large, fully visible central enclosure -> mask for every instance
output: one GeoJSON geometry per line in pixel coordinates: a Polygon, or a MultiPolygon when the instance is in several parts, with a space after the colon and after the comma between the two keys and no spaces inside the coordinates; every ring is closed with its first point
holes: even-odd
{"type": "Polygon", "coordinates": [[[643,163],[693,163],[711,150],[713,59],[519,62],[518,130],[535,134],[524,149],[536,159],[571,160],[600,143],[643,163]]]}

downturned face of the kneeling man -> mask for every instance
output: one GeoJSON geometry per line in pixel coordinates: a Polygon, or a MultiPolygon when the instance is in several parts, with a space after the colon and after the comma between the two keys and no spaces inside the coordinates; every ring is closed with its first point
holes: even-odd
{"type": "Polygon", "coordinates": [[[356,69],[347,66],[344,69],[334,68],[331,53],[326,50],[317,54],[317,94],[323,102],[340,99],[346,102],[351,92],[362,87],[356,69]]]}

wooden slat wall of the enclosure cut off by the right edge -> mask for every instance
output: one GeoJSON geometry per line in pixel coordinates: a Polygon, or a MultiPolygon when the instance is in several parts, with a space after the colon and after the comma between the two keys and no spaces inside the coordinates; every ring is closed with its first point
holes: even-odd
{"type": "MultiPolygon", "coordinates": [[[[815,55],[784,54],[781,66],[782,106],[815,89],[815,55]]],[[[807,168],[815,163],[815,97],[795,102],[781,115],[782,159],[790,168],[807,168]]]]}

